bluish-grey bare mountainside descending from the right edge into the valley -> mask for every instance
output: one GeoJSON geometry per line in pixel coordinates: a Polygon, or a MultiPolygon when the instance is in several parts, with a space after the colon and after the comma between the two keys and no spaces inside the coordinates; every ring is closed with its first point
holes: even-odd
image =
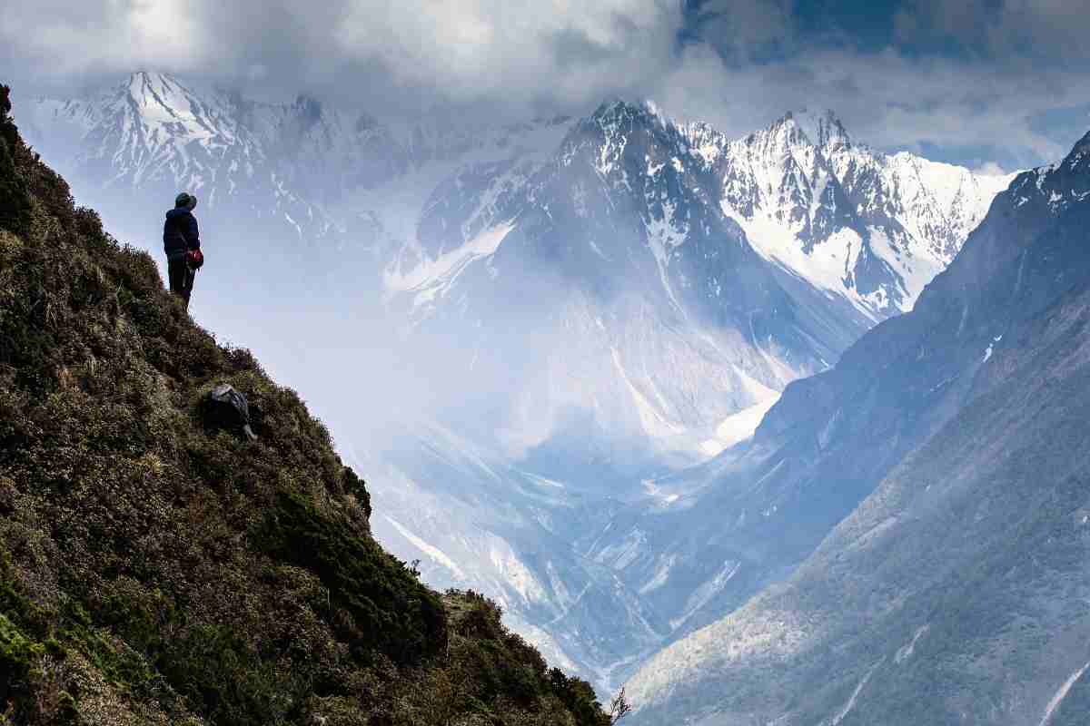
{"type": "Polygon", "coordinates": [[[1088,220],[1090,135],[1019,175],[912,312],[789,386],[754,446],[810,473],[770,487],[862,501],[653,659],[635,723],[1085,719],[1088,220]]]}

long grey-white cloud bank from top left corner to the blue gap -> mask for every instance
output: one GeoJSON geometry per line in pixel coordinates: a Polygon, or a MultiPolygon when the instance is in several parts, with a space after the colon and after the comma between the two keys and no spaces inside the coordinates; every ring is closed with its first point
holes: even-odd
{"type": "Polygon", "coordinates": [[[154,67],[455,101],[585,100],[637,86],[671,62],[682,22],[673,0],[9,4],[0,42],[25,75],[154,67]]]}

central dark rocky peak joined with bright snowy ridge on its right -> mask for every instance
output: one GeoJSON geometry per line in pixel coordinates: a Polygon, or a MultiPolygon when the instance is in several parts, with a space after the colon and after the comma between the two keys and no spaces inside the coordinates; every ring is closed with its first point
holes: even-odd
{"type": "Polygon", "coordinates": [[[387,290],[419,329],[469,339],[473,366],[501,361],[492,378],[523,371],[544,420],[517,427],[593,398],[604,430],[715,453],[725,419],[909,309],[1010,179],[819,121],[816,141],[791,114],[730,141],[604,103],[546,163],[438,187],[387,290]]]}

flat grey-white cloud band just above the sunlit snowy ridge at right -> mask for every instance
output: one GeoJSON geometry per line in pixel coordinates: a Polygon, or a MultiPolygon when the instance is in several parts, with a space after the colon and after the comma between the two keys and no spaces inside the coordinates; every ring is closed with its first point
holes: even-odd
{"type": "Polygon", "coordinates": [[[1071,67],[1042,77],[1028,67],[921,60],[893,50],[867,56],[814,50],[728,72],[714,53],[694,49],[654,94],[673,112],[708,120],[731,135],[785,110],[831,108],[856,138],[873,146],[992,146],[1009,150],[1012,163],[1025,167],[1070,149],[1075,138],[1049,136],[1031,120],[1046,109],[1085,103],[1090,76],[1071,67]]]}

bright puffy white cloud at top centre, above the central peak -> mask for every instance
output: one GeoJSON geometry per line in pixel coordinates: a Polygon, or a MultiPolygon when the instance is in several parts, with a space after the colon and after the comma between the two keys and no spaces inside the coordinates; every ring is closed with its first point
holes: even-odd
{"type": "Polygon", "coordinates": [[[578,98],[654,75],[679,23],[664,0],[368,0],[352,3],[335,38],[348,58],[458,100],[578,98]]]}

